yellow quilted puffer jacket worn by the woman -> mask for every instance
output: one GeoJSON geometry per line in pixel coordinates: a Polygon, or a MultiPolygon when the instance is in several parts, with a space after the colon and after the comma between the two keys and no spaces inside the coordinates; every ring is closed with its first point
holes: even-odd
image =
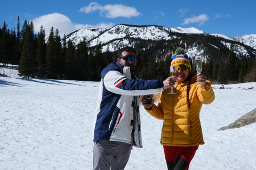
{"type": "Polygon", "coordinates": [[[196,84],[196,73],[190,72],[189,90],[190,109],[187,105],[187,84],[176,82],[173,92],[171,88],[161,92],[158,106],[153,105],[147,112],[164,120],[161,144],[166,146],[196,146],[204,145],[203,132],[199,113],[203,104],[211,104],[215,99],[210,81],[206,81],[206,89],[196,84]]]}

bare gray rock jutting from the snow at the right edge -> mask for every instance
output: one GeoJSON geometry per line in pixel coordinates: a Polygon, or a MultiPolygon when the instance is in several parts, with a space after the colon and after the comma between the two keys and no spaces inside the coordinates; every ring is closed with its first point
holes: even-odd
{"type": "Polygon", "coordinates": [[[234,128],[240,128],[245,125],[249,125],[256,122],[256,108],[253,109],[251,112],[246,113],[244,116],[238,118],[234,123],[231,123],[228,126],[224,126],[220,128],[218,131],[223,131],[226,129],[234,129],[234,128]]]}

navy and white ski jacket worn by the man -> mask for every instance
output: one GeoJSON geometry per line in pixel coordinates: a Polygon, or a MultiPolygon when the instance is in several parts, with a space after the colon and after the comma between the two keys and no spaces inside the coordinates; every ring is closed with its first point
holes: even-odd
{"type": "Polygon", "coordinates": [[[94,141],[121,141],[142,148],[139,96],[159,94],[163,82],[139,80],[132,75],[130,67],[118,62],[102,70],[94,115],[94,141]]]}

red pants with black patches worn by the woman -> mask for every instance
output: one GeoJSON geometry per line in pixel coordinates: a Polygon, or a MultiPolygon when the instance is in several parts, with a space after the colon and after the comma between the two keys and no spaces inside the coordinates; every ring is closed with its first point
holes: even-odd
{"type": "Polygon", "coordinates": [[[198,146],[191,147],[164,147],[164,156],[168,169],[188,170],[191,160],[196,154],[198,146]],[[179,167],[178,167],[179,166],[179,167]],[[182,168],[183,167],[183,168],[182,168]]]}

